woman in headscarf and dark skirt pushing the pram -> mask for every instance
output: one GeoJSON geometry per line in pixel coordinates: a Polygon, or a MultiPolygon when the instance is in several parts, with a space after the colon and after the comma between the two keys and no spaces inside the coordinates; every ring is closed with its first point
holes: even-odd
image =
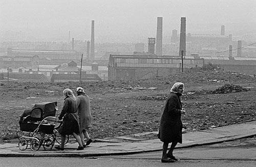
{"type": "Polygon", "coordinates": [[[80,128],[76,107],[76,97],[73,91],[70,89],[65,89],[63,91],[63,95],[65,96],[65,99],[61,113],[58,117],[59,120],[63,118],[62,125],[59,128],[59,134],[61,135],[61,144],[60,146],[56,146],[55,148],[58,150],[64,150],[66,135],[73,134],[79,145],[77,150],[83,150],[81,138],[79,136],[80,128]]]}

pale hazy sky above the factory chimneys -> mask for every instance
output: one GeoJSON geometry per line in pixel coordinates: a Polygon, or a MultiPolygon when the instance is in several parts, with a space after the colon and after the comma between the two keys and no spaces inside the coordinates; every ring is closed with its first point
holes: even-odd
{"type": "MultiPolygon", "coordinates": [[[[91,37],[95,20],[98,40],[156,37],[157,17],[163,17],[163,36],[180,31],[226,35],[256,31],[255,0],[0,0],[0,31],[27,31],[38,36],[91,37]]],[[[95,41],[96,42],[96,41],[95,41]]]]}

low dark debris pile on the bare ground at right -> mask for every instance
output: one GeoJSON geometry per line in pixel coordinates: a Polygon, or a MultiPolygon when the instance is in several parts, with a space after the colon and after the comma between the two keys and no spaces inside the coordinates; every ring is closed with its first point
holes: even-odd
{"type": "Polygon", "coordinates": [[[222,86],[221,88],[218,88],[214,91],[212,91],[212,94],[225,94],[225,93],[236,93],[236,92],[246,92],[248,91],[245,88],[242,88],[239,85],[230,85],[226,84],[222,86]]]}

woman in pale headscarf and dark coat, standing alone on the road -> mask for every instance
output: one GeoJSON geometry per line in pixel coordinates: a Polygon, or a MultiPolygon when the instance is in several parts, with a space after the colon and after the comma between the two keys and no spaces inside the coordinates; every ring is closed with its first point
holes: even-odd
{"type": "Polygon", "coordinates": [[[178,143],[182,143],[181,114],[185,114],[185,109],[182,108],[180,96],[183,91],[184,84],[176,82],[170,89],[170,95],[165,102],[158,133],[158,138],[163,142],[162,162],[178,160],[174,157],[173,151],[178,143]],[[167,153],[169,143],[172,145],[167,153]]]}

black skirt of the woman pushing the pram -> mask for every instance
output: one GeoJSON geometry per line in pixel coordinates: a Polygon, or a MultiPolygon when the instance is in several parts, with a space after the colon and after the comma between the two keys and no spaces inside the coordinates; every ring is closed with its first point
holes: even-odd
{"type": "Polygon", "coordinates": [[[59,134],[70,135],[72,133],[80,133],[79,118],[77,113],[66,113],[59,128],[59,134]]]}

